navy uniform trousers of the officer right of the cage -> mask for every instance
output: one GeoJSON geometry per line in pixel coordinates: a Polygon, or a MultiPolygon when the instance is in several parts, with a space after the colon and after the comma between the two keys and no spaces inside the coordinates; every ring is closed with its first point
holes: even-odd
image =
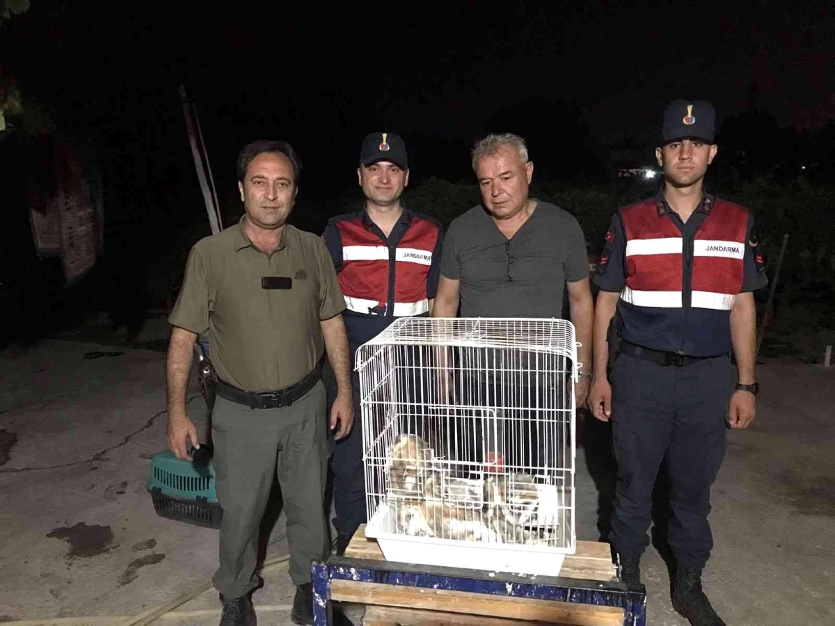
{"type": "Polygon", "coordinates": [[[713,548],[707,515],[726,448],[734,367],[727,356],[660,366],[620,354],[610,373],[618,478],[611,541],[620,553],[649,545],[652,489],[662,462],[671,483],[668,541],[676,559],[701,567],[713,548]]]}

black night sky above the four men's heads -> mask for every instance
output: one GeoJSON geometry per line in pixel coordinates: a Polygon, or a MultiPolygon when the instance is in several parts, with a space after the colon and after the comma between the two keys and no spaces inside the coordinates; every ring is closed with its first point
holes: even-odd
{"type": "Polygon", "coordinates": [[[413,174],[454,179],[469,175],[466,149],[485,130],[524,132],[534,161],[534,147],[570,158],[572,110],[603,144],[651,141],[678,97],[711,99],[720,120],[752,98],[783,125],[835,118],[826,2],[32,4],[0,29],[0,58],[28,93],[154,167],[188,158],[185,83],[221,179],[261,137],[290,139],[306,182],[324,188],[352,184],[373,129],[406,136],[413,174]],[[530,98],[547,102],[529,109],[530,98]]]}

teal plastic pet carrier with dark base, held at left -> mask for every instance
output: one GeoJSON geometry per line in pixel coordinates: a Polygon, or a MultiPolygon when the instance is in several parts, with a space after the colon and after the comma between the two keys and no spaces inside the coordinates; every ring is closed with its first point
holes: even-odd
{"type": "Polygon", "coordinates": [[[215,493],[215,467],[209,446],[192,452],[194,461],[181,461],[170,451],[151,460],[148,491],[160,517],[206,528],[220,528],[223,509],[215,493]]]}

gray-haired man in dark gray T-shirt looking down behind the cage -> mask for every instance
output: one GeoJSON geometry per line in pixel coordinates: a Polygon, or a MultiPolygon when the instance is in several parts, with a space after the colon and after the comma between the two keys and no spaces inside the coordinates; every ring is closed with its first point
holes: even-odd
{"type": "Polygon", "coordinates": [[[594,317],[583,231],[574,216],[529,197],[534,164],[521,137],[488,135],[473,147],[472,164],[483,204],[449,226],[432,315],[455,317],[460,305],[462,317],[559,318],[567,285],[581,344],[574,395],[582,406],[591,378],[594,317]]]}

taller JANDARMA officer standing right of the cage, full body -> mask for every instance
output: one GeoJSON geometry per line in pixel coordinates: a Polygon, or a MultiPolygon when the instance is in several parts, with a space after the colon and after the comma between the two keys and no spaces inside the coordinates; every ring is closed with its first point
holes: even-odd
{"type": "Polygon", "coordinates": [[[713,547],[710,489],[726,427],[747,428],[754,419],[752,292],[767,284],[751,212],[703,189],[715,127],[711,103],[669,104],[655,149],[663,188],[611,220],[595,275],[589,396],[595,417],[612,425],[618,477],[610,539],[621,579],[640,584],[653,485],[666,462],[673,607],[700,626],[724,623],[701,589],[713,547]]]}

